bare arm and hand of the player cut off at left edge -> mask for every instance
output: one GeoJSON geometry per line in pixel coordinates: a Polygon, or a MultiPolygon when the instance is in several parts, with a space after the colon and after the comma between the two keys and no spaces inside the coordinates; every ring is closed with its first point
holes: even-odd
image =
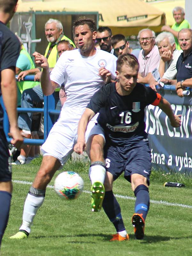
{"type": "Polygon", "coordinates": [[[17,126],[17,85],[15,71],[12,68],[6,68],[1,71],[1,91],[10,122],[11,143],[16,148],[19,148],[23,138],[17,126]]]}

